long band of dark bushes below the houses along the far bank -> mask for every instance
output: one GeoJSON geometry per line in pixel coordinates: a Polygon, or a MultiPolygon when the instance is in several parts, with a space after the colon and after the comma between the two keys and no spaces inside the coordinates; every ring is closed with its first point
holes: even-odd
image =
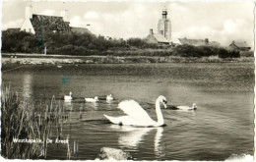
{"type": "MultiPolygon", "coordinates": [[[[6,30],[2,33],[2,52],[43,53],[47,46],[47,53],[61,55],[118,55],[118,56],[181,56],[181,57],[209,57],[220,58],[240,57],[237,51],[211,46],[177,45],[171,50],[167,45],[147,43],[145,39],[105,38],[91,33],[53,33],[48,32],[42,37],[25,31],[6,30]],[[161,48],[161,49],[160,49],[161,48]],[[149,50],[154,49],[154,50],[149,50]],[[160,49],[160,51],[158,51],[160,49]],[[108,52],[106,52],[108,51],[108,52]],[[109,51],[111,51],[109,53],[109,51]]],[[[247,55],[246,55],[247,56],[247,55]]],[[[250,56],[253,56],[250,54],[250,56]]]]}

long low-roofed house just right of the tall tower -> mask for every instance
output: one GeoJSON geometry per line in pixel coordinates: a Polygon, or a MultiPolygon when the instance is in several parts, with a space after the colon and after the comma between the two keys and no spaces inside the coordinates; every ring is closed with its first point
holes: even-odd
{"type": "Polygon", "coordinates": [[[218,47],[221,44],[217,41],[209,41],[208,38],[205,39],[188,39],[186,37],[179,38],[181,44],[193,45],[193,46],[214,46],[218,47]]]}

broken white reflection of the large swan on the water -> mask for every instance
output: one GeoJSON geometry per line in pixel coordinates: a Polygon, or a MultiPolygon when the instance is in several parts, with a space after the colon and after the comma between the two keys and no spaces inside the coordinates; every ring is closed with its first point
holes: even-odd
{"type": "MultiPolygon", "coordinates": [[[[145,140],[145,135],[154,134],[156,130],[157,133],[155,135],[154,139],[154,151],[157,157],[163,157],[165,156],[164,153],[164,147],[160,143],[163,128],[142,128],[142,127],[131,127],[131,126],[118,126],[118,125],[111,125],[110,128],[115,131],[120,131],[124,134],[119,134],[118,137],[118,143],[122,146],[125,146],[127,148],[138,148],[140,143],[143,143],[143,140],[145,140]]],[[[153,141],[153,139],[151,140],[153,141]]]]}

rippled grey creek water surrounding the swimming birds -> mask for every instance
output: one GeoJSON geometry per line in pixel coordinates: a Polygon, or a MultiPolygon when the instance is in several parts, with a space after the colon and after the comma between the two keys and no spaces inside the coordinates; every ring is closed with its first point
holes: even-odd
{"type": "MultiPolygon", "coordinates": [[[[78,143],[73,159],[94,160],[102,147],[130,152],[134,160],[224,160],[253,154],[253,63],[28,65],[3,72],[2,81],[11,81],[12,90],[35,105],[49,103],[54,95],[69,114],[62,134],[71,145],[78,143]],[[74,99],[65,102],[70,91],[74,99]],[[107,94],[113,95],[112,102],[84,99],[107,94]],[[118,103],[134,99],[157,120],[159,95],[170,105],[195,102],[198,108],[162,108],[163,128],[115,126],[103,117],[123,115],[118,103]]],[[[49,144],[47,159],[67,159],[67,146],[49,144]]]]}

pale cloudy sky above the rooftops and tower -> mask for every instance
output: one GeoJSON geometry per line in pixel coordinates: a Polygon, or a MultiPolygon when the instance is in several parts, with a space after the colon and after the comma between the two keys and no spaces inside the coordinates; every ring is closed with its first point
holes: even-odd
{"type": "MultiPolygon", "coordinates": [[[[22,27],[28,1],[5,0],[2,29],[22,27]]],[[[60,16],[68,11],[71,27],[87,27],[96,35],[113,38],[144,38],[150,28],[158,30],[165,8],[171,21],[172,41],[178,38],[209,38],[229,45],[232,40],[253,46],[253,1],[32,1],[32,13],[60,16]]]]}

